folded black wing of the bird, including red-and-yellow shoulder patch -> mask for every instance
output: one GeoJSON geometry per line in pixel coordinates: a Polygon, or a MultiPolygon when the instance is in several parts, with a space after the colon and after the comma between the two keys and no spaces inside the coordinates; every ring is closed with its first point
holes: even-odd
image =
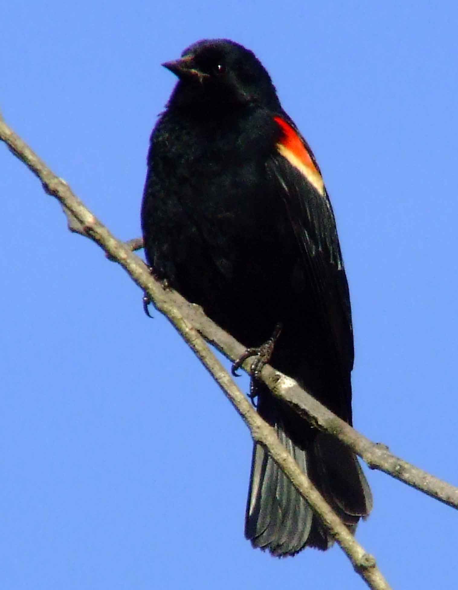
{"type": "Polygon", "coordinates": [[[280,185],[317,312],[348,375],[354,358],[350,296],[330,199],[314,155],[294,123],[284,113],[274,119],[279,139],[268,173],[280,185]]]}

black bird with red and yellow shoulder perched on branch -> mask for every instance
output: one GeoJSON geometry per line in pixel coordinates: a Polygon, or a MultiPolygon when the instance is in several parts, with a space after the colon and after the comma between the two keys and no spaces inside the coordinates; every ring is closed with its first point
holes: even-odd
{"type": "MultiPolygon", "coordinates": [[[[311,149],[255,55],[199,41],[163,64],[179,78],[151,135],[141,209],[154,273],[247,347],[281,324],[270,363],[351,424],[350,297],[311,149]]],[[[259,414],[353,532],[372,507],[357,458],[260,382],[259,414]]],[[[272,555],[332,544],[255,444],[245,536],[272,555]]]]}

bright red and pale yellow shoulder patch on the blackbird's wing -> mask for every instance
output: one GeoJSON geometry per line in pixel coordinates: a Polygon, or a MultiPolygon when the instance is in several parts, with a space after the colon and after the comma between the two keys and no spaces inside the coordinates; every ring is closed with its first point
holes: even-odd
{"type": "Polygon", "coordinates": [[[282,130],[281,139],[277,143],[279,153],[307,178],[308,182],[317,189],[320,195],[324,196],[323,179],[301,137],[299,137],[294,127],[286,123],[281,117],[276,116],[274,120],[282,130]]]}

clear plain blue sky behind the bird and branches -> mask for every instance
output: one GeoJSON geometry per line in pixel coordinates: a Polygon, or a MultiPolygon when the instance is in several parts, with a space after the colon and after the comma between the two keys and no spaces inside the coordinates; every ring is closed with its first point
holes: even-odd
{"type": "MultiPolygon", "coordinates": [[[[355,425],[458,484],[454,2],[9,2],[0,109],[120,238],[151,127],[205,37],[251,48],[315,151],[350,281],[355,425]]],[[[339,548],[243,539],[251,440],[141,293],[0,148],[0,587],[354,590],[339,548]]],[[[246,386],[246,381],[239,380],[246,386]]],[[[456,587],[457,514],[368,472],[394,588],[456,587]]]]}

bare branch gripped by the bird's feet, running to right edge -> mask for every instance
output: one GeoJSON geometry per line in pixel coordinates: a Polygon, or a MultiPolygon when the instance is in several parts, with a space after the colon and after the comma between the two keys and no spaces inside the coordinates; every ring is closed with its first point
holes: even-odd
{"type": "MultiPolygon", "coordinates": [[[[162,284],[151,276],[146,264],[131,253],[131,250],[139,246],[140,238],[126,242],[126,244],[116,240],[100,221],[84,207],[67,183],[58,178],[2,119],[0,119],[0,139],[38,176],[45,191],[60,201],[65,215],[67,215],[71,231],[77,231],[90,237],[103,248],[108,258],[121,264],[137,285],[148,294],[157,309],[169,317],[178,329],[181,324],[188,322],[205,337],[207,342],[218,348],[229,359],[240,358],[245,352],[245,347],[213,323],[203,313],[202,308],[189,303],[176,291],[164,291],[162,284]]],[[[243,364],[243,368],[250,372],[251,363],[249,360],[243,364]]],[[[458,508],[458,488],[396,457],[388,451],[385,445],[371,442],[332,414],[307,391],[301,389],[295,381],[275,371],[271,366],[266,365],[263,368],[261,378],[276,396],[288,402],[296,412],[315,427],[334,434],[360,455],[372,469],[384,471],[409,486],[415,487],[417,490],[449,504],[449,506],[458,508]]]]}

